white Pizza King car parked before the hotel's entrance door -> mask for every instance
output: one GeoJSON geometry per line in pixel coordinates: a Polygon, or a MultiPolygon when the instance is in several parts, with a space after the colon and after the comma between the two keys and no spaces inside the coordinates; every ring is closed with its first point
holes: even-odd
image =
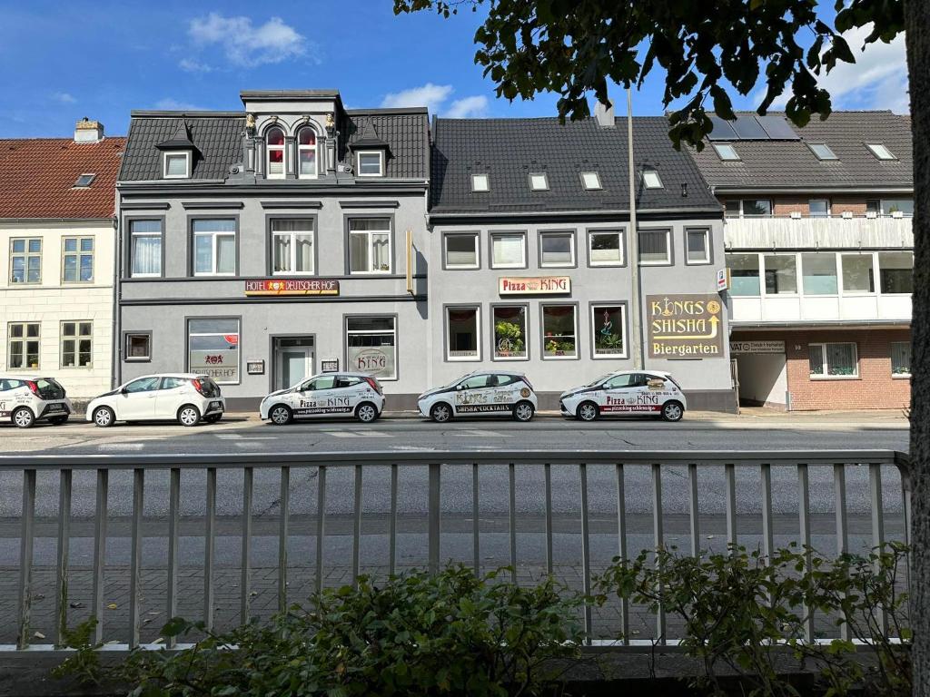
{"type": "Polygon", "coordinates": [[[353,416],[364,424],[384,411],[384,392],[367,373],[313,375],[293,388],[279,389],[261,401],[259,415],[275,426],[296,418],[353,416]]]}

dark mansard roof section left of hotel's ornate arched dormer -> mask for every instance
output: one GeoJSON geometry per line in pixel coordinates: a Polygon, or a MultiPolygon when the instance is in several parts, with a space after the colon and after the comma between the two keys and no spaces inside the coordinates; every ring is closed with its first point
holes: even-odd
{"type": "Polygon", "coordinates": [[[160,143],[175,138],[187,123],[195,148],[193,179],[223,179],[231,164],[242,161],[245,114],[222,112],[133,112],[120,181],[162,178],[160,143]]]}

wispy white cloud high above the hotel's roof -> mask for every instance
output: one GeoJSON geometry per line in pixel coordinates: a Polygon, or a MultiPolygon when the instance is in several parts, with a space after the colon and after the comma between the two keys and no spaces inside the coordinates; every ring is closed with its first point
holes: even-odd
{"type": "Polygon", "coordinates": [[[188,34],[198,46],[219,46],[233,65],[254,68],[307,54],[307,39],[280,17],[255,26],[248,17],[211,12],[191,20],[188,34]]]}

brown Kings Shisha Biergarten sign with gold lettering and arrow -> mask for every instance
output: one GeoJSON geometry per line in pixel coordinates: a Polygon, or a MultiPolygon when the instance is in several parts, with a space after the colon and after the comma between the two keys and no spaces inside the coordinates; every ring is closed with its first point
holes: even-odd
{"type": "Polygon", "coordinates": [[[646,296],[649,358],[723,358],[718,296],[646,296]]]}

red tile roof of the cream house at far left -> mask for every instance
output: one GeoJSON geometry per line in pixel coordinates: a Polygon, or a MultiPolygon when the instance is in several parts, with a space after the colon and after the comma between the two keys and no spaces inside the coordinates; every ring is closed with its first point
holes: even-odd
{"type": "Polygon", "coordinates": [[[116,174],[126,138],[0,140],[0,218],[113,217],[116,174]],[[96,174],[75,189],[82,174],[96,174]]]}

